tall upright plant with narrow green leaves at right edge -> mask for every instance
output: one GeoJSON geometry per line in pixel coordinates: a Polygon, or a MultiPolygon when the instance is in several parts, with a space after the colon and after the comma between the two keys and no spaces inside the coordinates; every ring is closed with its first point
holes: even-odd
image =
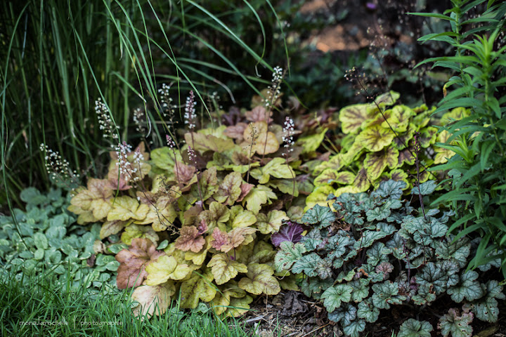
{"type": "Polygon", "coordinates": [[[458,237],[473,233],[482,238],[469,266],[476,267],[501,256],[506,277],[506,46],[503,39],[506,4],[488,1],[482,15],[470,18],[468,12],[486,1],[452,3],[454,7],[444,14],[417,13],[448,20],[452,29],[420,38],[420,41],[446,42],[455,50],[455,56],[422,62],[434,62],[434,67],[455,71],[455,76],[445,85],[445,93],[447,88],[453,91],[441,100],[434,113],[455,106],[471,111],[469,117],[450,121],[440,128],[446,142],[440,142],[439,146],[455,156],[433,168],[450,170],[452,177],[452,187],[434,204],[451,204],[458,220],[450,230],[458,231],[458,237]],[[467,28],[480,22],[483,25],[467,28]]]}

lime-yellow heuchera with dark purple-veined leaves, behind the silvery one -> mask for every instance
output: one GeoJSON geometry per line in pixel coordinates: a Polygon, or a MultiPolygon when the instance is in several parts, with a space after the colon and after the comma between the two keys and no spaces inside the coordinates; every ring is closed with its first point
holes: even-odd
{"type": "MultiPolygon", "coordinates": [[[[436,140],[446,139],[445,135],[437,138],[439,120],[430,117],[434,109],[394,105],[398,98],[399,94],[391,91],[373,103],[349,105],[339,111],[346,137],[338,154],[315,167],[316,188],[306,199],[308,207],[325,204],[330,193],[365,192],[384,180],[404,181],[408,190],[415,181],[440,178],[427,171],[448,157],[446,150],[432,148],[436,140]]],[[[463,114],[464,110],[455,108],[443,120],[460,119],[463,114]]]]}

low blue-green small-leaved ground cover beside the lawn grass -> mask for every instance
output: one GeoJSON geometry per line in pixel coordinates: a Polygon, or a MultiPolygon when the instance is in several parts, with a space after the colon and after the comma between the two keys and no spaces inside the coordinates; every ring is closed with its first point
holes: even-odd
{"type": "Polygon", "coordinates": [[[26,211],[14,209],[13,216],[0,216],[0,275],[13,270],[32,276],[44,273],[53,281],[71,286],[108,286],[115,289],[119,263],[114,255],[94,253],[100,225],[86,230],[66,211],[69,204],[60,190],[41,194],[33,187],[23,190],[26,211]],[[13,220],[15,218],[15,221],[13,220]],[[93,268],[90,267],[93,265],[93,268]]]}

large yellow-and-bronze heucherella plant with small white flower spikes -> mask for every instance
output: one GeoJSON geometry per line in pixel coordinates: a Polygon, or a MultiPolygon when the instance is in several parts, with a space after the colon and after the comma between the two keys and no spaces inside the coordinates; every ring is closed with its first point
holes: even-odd
{"type": "Polygon", "coordinates": [[[237,316],[254,296],[298,289],[293,275],[274,271],[269,239],[301,218],[312,185],[300,178],[309,171],[296,124],[272,113],[277,91],[269,110],[257,105],[233,119],[216,112],[223,125],[209,127],[190,95],[184,142],[173,133],[149,154],[122,143],[107,178],[75,191],[69,209],[78,223],[102,223],[96,245],[119,238],[117,286],[135,288],[136,315],[160,315],[179,298],[181,308],[204,302],[237,316]]]}

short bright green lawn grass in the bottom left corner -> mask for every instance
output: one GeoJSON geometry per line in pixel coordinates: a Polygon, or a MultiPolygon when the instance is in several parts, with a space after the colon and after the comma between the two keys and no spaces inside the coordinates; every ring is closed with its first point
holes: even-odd
{"type": "Polygon", "coordinates": [[[52,284],[44,275],[0,279],[1,336],[223,336],[244,337],[238,322],[228,324],[212,312],[184,313],[172,307],[164,315],[137,319],[129,291],[94,291],[52,284]]]}

